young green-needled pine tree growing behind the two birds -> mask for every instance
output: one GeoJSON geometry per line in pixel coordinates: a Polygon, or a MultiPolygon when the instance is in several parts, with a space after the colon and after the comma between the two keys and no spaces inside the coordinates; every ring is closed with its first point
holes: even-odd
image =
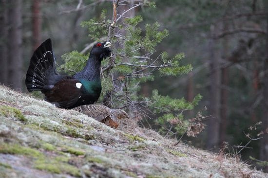
{"type": "MultiPolygon", "coordinates": [[[[133,113],[143,116],[157,114],[159,117],[155,124],[162,125],[159,131],[163,133],[165,127],[172,125],[171,121],[178,119],[183,125],[177,124],[174,129],[177,134],[181,134],[190,125],[190,122],[183,118],[183,111],[193,109],[202,97],[198,94],[191,102],[187,102],[184,98],[162,96],[157,90],[153,90],[152,97],[137,94],[140,85],[153,81],[157,72],[160,76],[177,76],[192,70],[191,64],[180,65],[180,61],[185,57],[183,53],[170,57],[167,52],[159,53],[155,50],[155,47],[169,36],[168,30],[159,30],[158,22],[141,27],[141,16],[124,16],[127,11],[139,6],[154,8],[155,3],[143,0],[137,4],[126,4],[125,0],[114,0],[112,20],[107,19],[106,10],[103,10],[99,19],[81,23],[82,27],[88,28],[89,37],[95,42],[109,40],[114,44],[112,56],[102,61],[103,89],[99,102],[112,108],[129,108],[133,113]],[[117,15],[117,7],[120,5],[126,5],[129,9],[117,15]],[[121,33],[122,30],[125,34],[121,33]]],[[[62,55],[62,59],[65,64],[60,66],[61,70],[72,73],[82,69],[87,55],[73,51],[62,55]]]]}

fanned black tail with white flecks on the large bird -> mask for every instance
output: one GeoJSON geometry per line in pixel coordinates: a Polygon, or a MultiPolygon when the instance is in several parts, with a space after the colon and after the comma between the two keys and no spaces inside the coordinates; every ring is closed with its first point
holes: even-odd
{"type": "Polygon", "coordinates": [[[51,39],[44,41],[34,52],[26,74],[28,91],[43,90],[47,70],[55,70],[51,39]]]}

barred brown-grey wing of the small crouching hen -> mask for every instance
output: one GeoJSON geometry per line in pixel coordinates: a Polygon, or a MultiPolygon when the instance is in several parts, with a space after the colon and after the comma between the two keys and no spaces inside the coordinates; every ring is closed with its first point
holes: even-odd
{"type": "Polygon", "coordinates": [[[97,121],[102,121],[110,115],[110,108],[103,105],[83,105],[74,109],[93,117],[97,121]]]}

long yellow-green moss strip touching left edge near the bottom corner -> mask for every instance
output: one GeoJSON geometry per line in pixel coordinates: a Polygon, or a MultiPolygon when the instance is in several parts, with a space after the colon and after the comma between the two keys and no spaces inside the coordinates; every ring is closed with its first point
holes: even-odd
{"type": "Polygon", "coordinates": [[[29,147],[24,147],[19,144],[7,144],[7,143],[0,143],[0,153],[4,154],[13,154],[13,155],[27,155],[27,156],[32,156],[35,158],[40,158],[43,157],[43,154],[40,153],[38,150],[29,148],[29,147]]]}

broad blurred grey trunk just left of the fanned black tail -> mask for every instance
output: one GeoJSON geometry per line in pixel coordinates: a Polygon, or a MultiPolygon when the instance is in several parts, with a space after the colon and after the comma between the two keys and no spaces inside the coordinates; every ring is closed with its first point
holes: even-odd
{"type": "Polygon", "coordinates": [[[12,89],[22,87],[22,0],[9,0],[9,31],[8,31],[8,82],[12,89]]]}

